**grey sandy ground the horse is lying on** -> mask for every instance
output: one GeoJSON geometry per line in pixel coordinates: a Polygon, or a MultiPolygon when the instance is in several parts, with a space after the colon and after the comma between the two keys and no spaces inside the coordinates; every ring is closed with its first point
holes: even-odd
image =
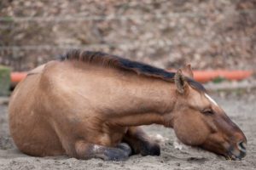
{"type": "Polygon", "coordinates": [[[161,156],[131,156],[127,161],[77,160],[67,156],[32,157],[15,149],[9,136],[7,105],[0,105],[0,169],[256,169],[256,98],[255,92],[213,98],[222,105],[231,119],[247,136],[247,156],[241,161],[226,161],[204,150],[183,147],[174,148],[175,134],[172,129],[147,126],[151,135],[161,134],[166,138],[161,143],[161,156]]]}

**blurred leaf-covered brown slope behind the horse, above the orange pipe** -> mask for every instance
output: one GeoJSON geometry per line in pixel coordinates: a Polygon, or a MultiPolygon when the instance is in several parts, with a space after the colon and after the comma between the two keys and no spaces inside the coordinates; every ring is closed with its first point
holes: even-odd
{"type": "Polygon", "coordinates": [[[70,48],[162,68],[254,69],[255,0],[1,0],[0,63],[27,71],[70,48]]]}

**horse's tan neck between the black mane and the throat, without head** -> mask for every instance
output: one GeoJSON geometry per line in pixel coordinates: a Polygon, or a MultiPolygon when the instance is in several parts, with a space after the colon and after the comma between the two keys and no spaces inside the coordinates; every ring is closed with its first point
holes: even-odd
{"type": "MultiPolygon", "coordinates": [[[[76,64],[73,71],[67,72],[71,74],[71,78],[87,77],[79,80],[81,86],[76,84],[79,93],[81,88],[95,87],[95,91],[84,90],[83,93],[87,94],[84,98],[88,98],[91,105],[96,105],[97,111],[103,113],[106,122],[124,127],[153,123],[166,125],[163,117],[172,112],[177,100],[174,83],[155,77],[137,76],[131,71],[84,65],[79,62],[68,65],[70,64],[76,64]],[[85,71],[81,72],[82,68],[85,68],[85,71]],[[88,97],[92,95],[94,97],[88,97]]],[[[73,81],[69,79],[68,82],[73,81]]]]}

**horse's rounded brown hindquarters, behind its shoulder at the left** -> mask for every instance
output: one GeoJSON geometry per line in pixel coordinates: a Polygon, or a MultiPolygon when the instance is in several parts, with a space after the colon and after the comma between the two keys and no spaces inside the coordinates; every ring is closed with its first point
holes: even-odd
{"type": "Polygon", "coordinates": [[[32,156],[59,155],[63,152],[55,131],[44,116],[40,89],[43,72],[44,66],[39,66],[28,73],[15,88],[9,102],[10,133],[17,147],[32,156]]]}

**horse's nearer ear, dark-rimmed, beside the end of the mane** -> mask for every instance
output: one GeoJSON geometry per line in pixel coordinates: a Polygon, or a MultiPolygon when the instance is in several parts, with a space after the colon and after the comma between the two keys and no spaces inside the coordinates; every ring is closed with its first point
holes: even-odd
{"type": "Polygon", "coordinates": [[[175,77],[174,77],[174,82],[177,87],[177,91],[180,94],[185,93],[185,88],[187,88],[187,82],[185,80],[185,77],[183,76],[182,70],[177,70],[175,77]]]}

